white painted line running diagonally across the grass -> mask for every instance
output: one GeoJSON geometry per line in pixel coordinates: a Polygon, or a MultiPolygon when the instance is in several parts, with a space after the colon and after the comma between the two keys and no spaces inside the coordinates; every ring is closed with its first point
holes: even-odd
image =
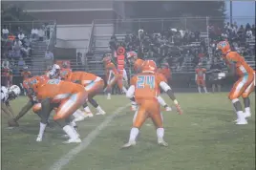
{"type": "Polygon", "coordinates": [[[60,159],[55,161],[53,165],[50,167],[49,170],[61,170],[65,165],[67,165],[72,159],[75,158],[77,154],[79,154],[81,151],[85,150],[91,142],[100,134],[100,132],[109,125],[109,123],[117,117],[117,115],[123,111],[125,108],[127,108],[130,105],[127,104],[123,107],[117,108],[115,113],[113,115],[110,115],[104,119],[102,123],[100,123],[95,130],[93,130],[86,138],[82,139],[82,142],[76,146],[74,149],[72,149],[69,153],[62,156],[60,159]]]}

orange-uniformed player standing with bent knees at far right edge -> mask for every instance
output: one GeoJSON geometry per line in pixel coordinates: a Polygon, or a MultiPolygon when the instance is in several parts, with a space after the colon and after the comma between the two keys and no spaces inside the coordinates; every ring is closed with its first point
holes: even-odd
{"type": "Polygon", "coordinates": [[[229,66],[230,72],[228,74],[221,73],[219,76],[239,76],[238,81],[234,84],[228,98],[232,101],[234,109],[237,114],[236,124],[247,124],[245,117],[250,117],[250,99],[249,95],[254,91],[255,86],[255,72],[245,62],[243,56],[237,52],[231,52],[229,43],[221,41],[217,45],[217,50],[223,53],[226,65],[229,66]],[[243,113],[242,104],[239,97],[242,96],[245,104],[245,114],[243,113]]]}

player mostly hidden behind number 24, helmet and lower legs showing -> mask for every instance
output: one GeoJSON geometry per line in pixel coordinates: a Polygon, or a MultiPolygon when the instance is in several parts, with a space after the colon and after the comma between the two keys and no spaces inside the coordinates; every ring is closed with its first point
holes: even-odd
{"type": "MultiPolygon", "coordinates": [[[[130,62],[130,64],[132,64],[134,66],[135,73],[137,73],[137,74],[141,73],[141,66],[142,66],[144,60],[139,59],[138,54],[136,52],[127,53],[127,58],[128,58],[128,61],[130,62]]],[[[163,98],[161,96],[158,96],[158,101],[159,101],[160,105],[164,107],[165,111],[172,111],[172,108],[166,104],[166,102],[163,100],[163,98]]],[[[136,102],[132,101],[131,110],[135,111],[136,108],[137,108],[136,102]]]]}

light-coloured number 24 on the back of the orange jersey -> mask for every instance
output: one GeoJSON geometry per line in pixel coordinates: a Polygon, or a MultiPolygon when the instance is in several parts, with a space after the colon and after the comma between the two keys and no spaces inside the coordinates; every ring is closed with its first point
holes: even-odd
{"type": "Polygon", "coordinates": [[[139,75],[137,76],[137,88],[142,89],[145,86],[149,86],[150,89],[155,88],[155,76],[154,75],[139,75]]]}

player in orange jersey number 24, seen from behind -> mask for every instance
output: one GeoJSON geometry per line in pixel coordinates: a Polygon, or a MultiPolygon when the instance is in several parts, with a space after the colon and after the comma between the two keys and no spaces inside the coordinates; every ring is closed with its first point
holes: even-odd
{"type": "Polygon", "coordinates": [[[139,135],[139,128],[144,123],[147,117],[151,117],[157,129],[158,143],[162,146],[168,146],[163,140],[164,129],[162,125],[162,116],[160,113],[160,104],[157,97],[159,96],[160,88],[174,101],[177,110],[181,113],[181,107],[176,97],[174,96],[170,86],[167,85],[166,79],[162,74],[156,73],[157,66],[153,60],[144,61],[142,73],[137,74],[131,79],[131,86],[127,91],[128,98],[135,98],[139,105],[133,119],[133,128],[130,132],[128,143],[123,145],[127,148],[136,145],[136,138],[139,135]]]}

